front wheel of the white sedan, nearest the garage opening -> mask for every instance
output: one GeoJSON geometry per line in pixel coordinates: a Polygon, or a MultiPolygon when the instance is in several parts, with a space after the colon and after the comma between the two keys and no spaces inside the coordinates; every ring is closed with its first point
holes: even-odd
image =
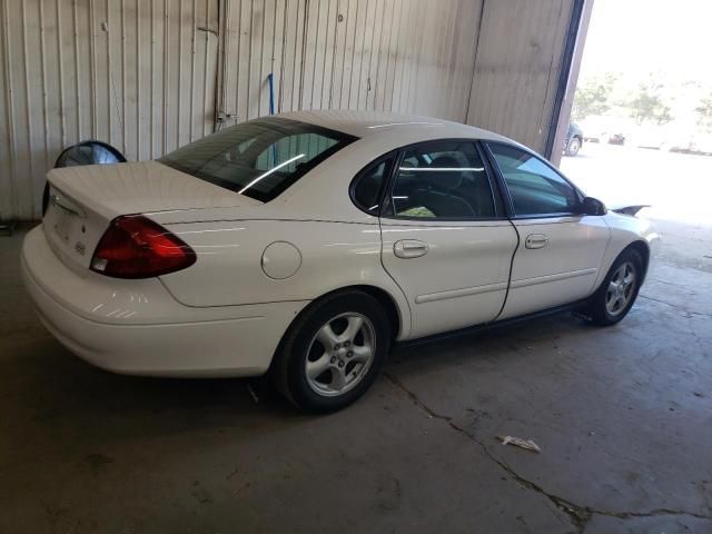
{"type": "Polygon", "coordinates": [[[591,297],[586,315],[595,325],[615,325],[633,307],[642,280],[643,259],[640,253],[633,248],[623,250],[591,297]]]}

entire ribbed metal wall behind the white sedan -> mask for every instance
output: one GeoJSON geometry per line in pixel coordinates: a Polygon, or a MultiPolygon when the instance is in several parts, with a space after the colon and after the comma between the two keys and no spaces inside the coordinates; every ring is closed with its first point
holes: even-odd
{"type": "Polygon", "coordinates": [[[0,0],[0,217],[61,149],[150,159],[277,111],[385,109],[542,150],[572,0],[0,0]]]}

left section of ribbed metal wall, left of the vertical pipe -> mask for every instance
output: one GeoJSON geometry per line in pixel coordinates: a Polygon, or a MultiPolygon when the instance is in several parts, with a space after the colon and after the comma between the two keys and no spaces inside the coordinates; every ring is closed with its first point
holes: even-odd
{"type": "Polygon", "coordinates": [[[0,0],[0,216],[83,139],[151,159],[212,131],[216,0],[0,0]]]}

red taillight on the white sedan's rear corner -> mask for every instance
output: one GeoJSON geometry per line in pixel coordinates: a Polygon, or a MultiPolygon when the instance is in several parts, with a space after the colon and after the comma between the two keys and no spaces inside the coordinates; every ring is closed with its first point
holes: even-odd
{"type": "Polygon", "coordinates": [[[196,253],[166,228],[140,215],[117,217],[101,237],[91,270],[115,278],[149,278],[185,269],[196,253]]]}

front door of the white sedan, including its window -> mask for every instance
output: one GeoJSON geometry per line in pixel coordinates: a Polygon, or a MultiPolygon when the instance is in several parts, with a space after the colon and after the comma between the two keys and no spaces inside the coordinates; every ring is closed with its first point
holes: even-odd
{"type": "Polygon", "coordinates": [[[510,294],[500,318],[589,296],[609,243],[603,217],[577,214],[583,196],[532,152],[500,142],[487,147],[520,235],[510,294]]]}

